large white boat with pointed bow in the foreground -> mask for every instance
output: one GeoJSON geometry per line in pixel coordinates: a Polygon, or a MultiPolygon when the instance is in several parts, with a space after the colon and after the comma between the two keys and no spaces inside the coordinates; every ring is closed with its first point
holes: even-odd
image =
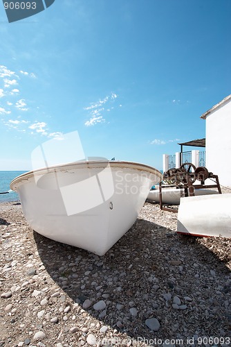
{"type": "Polygon", "coordinates": [[[150,187],[161,179],[145,164],[98,160],[29,171],[10,188],[33,230],[104,255],[131,228],[150,187]]]}

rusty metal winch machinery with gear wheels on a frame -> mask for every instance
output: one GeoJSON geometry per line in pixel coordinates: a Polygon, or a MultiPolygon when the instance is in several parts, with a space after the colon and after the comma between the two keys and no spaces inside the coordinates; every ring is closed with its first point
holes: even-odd
{"type": "Polygon", "coordinates": [[[195,167],[191,162],[185,162],[178,169],[172,168],[167,170],[163,174],[163,183],[160,182],[160,209],[167,210],[171,212],[177,212],[174,208],[163,207],[162,202],[162,189],[165,187],[176,187],[176,189],[181,189],[182,196],[194,196],[194,189],[202,188],[217,188],[221,194],[221,187],[219,184],[219,178],[217,175],[214,175],[212,172],[209,172],[206,167],[195,167]],[[205,185],[205,180],[207,178],[214,178],[214,185],[205,185]],[[197,181],[200,184],[193,185],[197,181]],[[184,194],[183,194],[184,191],[184,194]]]}

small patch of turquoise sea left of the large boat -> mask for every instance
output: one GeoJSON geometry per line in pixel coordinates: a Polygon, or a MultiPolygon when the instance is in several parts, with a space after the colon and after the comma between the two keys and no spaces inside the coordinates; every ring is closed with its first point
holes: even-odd
{"type": "Polygon", "coordinates": [[[26,171],[0,171],[0,203],[8,201],[19,201],[19,195],[10,189],[10,182],[17,176],[24,174],[26,171]]]}

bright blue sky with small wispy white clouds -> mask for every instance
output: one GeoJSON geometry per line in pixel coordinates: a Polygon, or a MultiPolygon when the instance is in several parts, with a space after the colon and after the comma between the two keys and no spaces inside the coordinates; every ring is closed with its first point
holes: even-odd
{"type": "Polygon", "coordinates": [[[8,23],[0,3],[0,170],[78,131],[86,156],[162,169],[230,94],[230,0],[55,0],[8,23]]]}

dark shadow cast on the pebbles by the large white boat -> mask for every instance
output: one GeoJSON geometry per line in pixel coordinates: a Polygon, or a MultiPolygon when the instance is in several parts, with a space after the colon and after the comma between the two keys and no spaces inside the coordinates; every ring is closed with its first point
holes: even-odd
{"type": "Polygon", "coordinates": [[[228,297],[230,300],[230,291],[222,289],[230,270],[196,238],[137,219],[106,255],[98,257],[37,232],[34,237],[50,277],[73,302],[107,301],[105,315],[99,316],[93,306],[86,312],[133,339],[193,336],[195,326],[199,335],[206,336],[220,336],[222,330],[230,330],[223,303],[228,297]],[[99,293],[108,294],[108,298],[99,293]],[[172,299],[163,298],[166,293],[181,298],[187,309],[174,310],[172,299]],[[185,296],[192,301],[185,301],[185,296]],[[123,305],[122,310],[118,304],[123,305]],[[131,315],[131,307],[136,307],[137,315],[131,315]],[[158,332],[145,325],[152,317],[160,322],[158,332]]]}

